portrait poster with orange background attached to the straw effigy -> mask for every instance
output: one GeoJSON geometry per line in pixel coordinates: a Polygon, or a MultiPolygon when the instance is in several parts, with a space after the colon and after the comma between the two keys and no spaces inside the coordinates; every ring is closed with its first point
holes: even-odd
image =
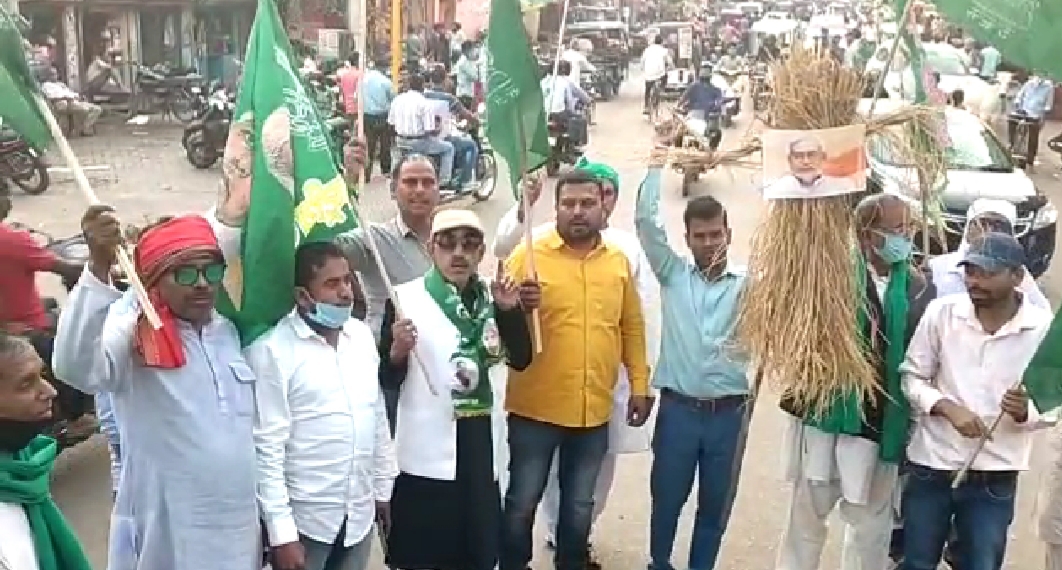
{"type": "Polygon", "coordinates": [[[812,198],[867,186],[867,125],[763,134],[764,198],[812,198]]]}

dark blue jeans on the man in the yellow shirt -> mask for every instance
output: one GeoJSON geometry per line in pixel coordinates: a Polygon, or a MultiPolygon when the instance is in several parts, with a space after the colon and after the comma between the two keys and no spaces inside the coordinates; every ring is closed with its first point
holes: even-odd
{"type": "Polygon", "coordinates": [[[501,570],[527,570],[534,515],[559,451],[561,501],[556,520],[556,570],[584,570],[594,487],[609,450],[609,425],[564,428],[509,415],[509,489],[501,517],[501,570]]]}

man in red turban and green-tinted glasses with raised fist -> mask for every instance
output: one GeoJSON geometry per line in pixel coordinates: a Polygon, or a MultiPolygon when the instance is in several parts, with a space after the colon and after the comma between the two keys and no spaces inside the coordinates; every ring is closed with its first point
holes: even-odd
{"type": "MultiPolygon", "coordinates": [[[[106,206],[82,219],[91,261],[59,319],[53,366],[120,418],[122,473],[109,570],[258,570],[254,382],[236,328],[215,311],[225,262],[199,215],[145,229],[135,263],[161,319],[114,289],[121,244],[106,206]]],[[[132,295],[132,294],[130,294],[132,295]]]]}

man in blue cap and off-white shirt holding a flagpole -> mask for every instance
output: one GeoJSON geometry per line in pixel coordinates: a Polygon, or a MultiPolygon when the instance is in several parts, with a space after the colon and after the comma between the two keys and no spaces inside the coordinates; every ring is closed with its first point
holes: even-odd
{"type": "Polygon", "coordinates": [[[1032,432],[1047,425],[1021,384],[1051,323],[1018,290],[1025,249],[1012,236],[986,232],[960,264],[967,293],[929,304],[901,366],[913,424],[903,570],[936,570],[953,519],[963,570],[1001,567],[1017,474],[1029,467],[1032,432]]]}

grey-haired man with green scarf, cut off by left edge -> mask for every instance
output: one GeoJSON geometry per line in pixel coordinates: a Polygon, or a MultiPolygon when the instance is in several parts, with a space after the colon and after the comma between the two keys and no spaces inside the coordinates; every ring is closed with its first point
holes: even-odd
{"type": "Polygon", "coordinates": [[[41,434],[56,392],[29,341],[0,330],[0,568],[90,570],[51,498],[57,446],[41,434]]]}

